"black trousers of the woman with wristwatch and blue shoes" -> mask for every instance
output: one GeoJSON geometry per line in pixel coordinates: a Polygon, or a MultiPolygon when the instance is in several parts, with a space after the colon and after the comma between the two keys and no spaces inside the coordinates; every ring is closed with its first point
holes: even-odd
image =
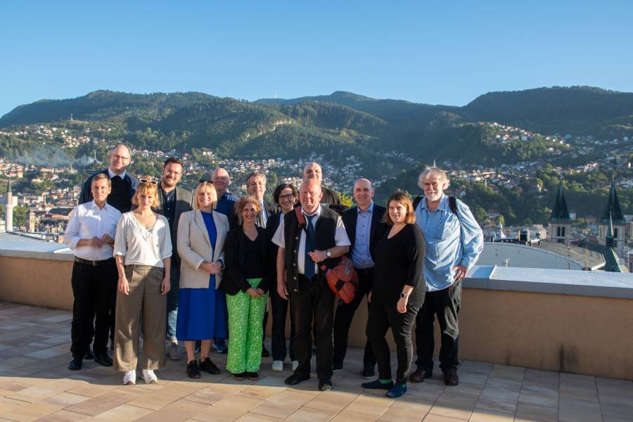
{"type": "Polygon", "coordinates": [[[398,366],[396,369],[396,384],[406,384],[413,358],[413,341],[411,331],[418,307],[407,306],[407,312],[401,314],[397,311],[396,303],[369,304],[369,317],[367,318],[367,338],[371,342],[373,353],[378,362],[378,377],[381,380],[391,378],[391,359],[389,345],[385,340],[387,330],[391,328],[393,340],[396,344],[398,366]]]}

